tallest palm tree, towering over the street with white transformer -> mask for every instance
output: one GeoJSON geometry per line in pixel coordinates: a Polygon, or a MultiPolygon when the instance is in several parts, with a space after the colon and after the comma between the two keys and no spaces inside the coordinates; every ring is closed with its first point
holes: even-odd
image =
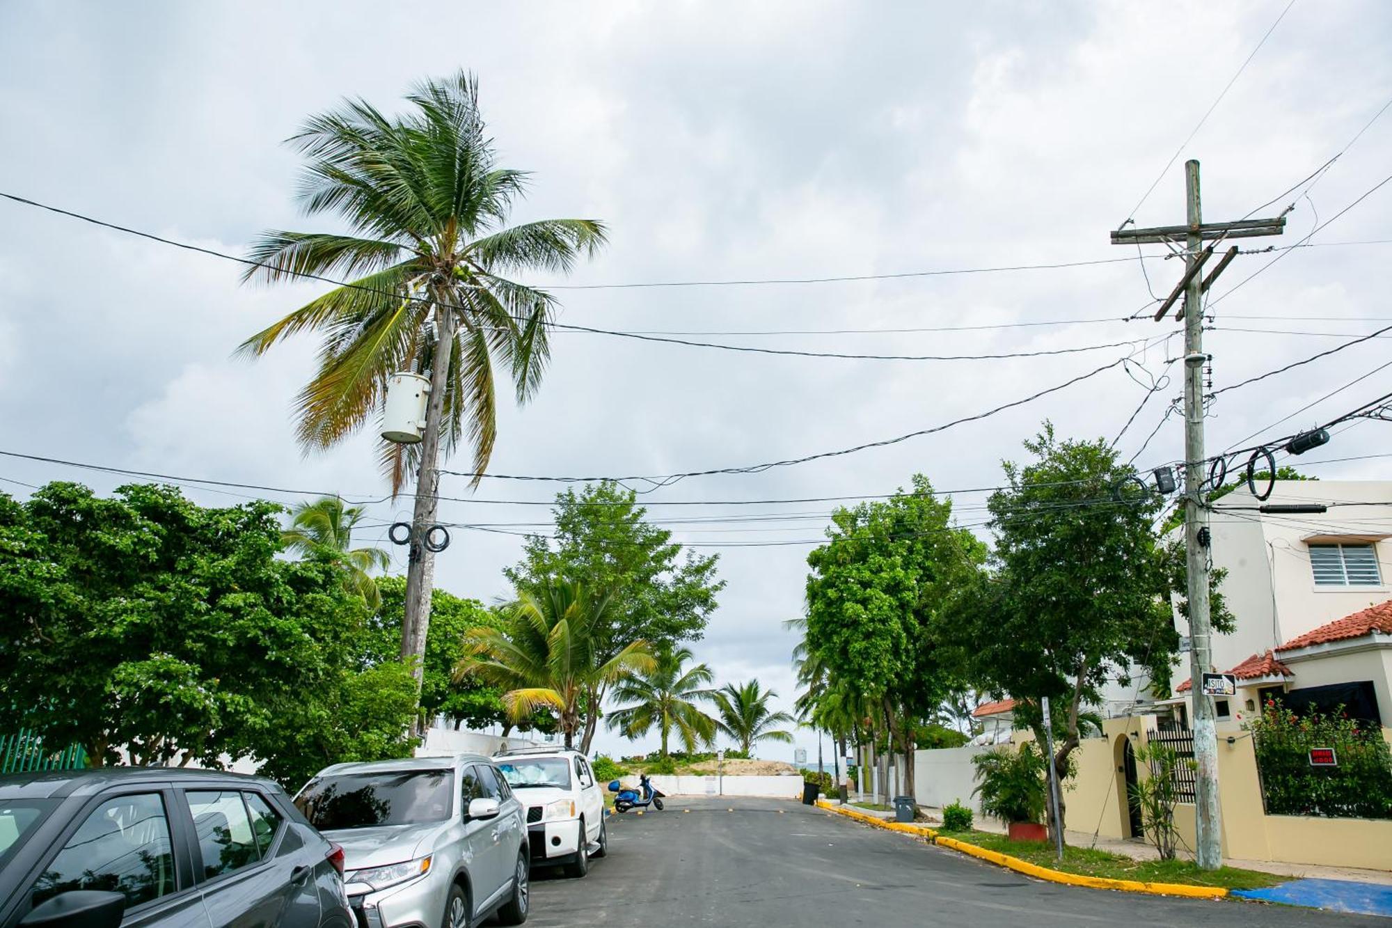
{"type": "Polygon", "coordinates": [[[344,274],[352,283],[258,332],[239,351],[259,357],[301,332],[323,336],[319,371],[298,397],[306,451],[331,447],[381,408],[387,378],[429,373],[419,451],[383,443],[393,493],[415,468],[401,656],[416,686],[430,624],[441,440],[465,442],[477,485],[497,436],[493,365],[507,365],[518,403],[536,393],[550,354],[551,294],[505,274],[568,272],[604,242],[592,219],[505,224],[526,174],[498,167],[479,114],[477,82],[459,72],[406,96],[387,117],[366,100],[315,116],[290,142],[306,157],[298,199],[308,215],[335,213],[349,234],[267,231],[251,249],[246,280],[278,283],[344,274]]]}

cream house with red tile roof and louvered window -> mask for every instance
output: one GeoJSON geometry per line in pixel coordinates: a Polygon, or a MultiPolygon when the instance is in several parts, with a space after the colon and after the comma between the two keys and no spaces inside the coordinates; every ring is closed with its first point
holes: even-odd
{"type": "MultiPolygon", "coordinates": [[[[1392,723],[1392,482],[1276,481],[1268,504],[1322,504],[1325,513],[1261,513],[1246,490],[1215,503],[1214,567],[1236,630],[1212,638],[1211,672],[1237,679],[1217,698],[1219,730],[1240,729],[1268,697],[1392,723]]],[[[1187,627],[1176,617],[1180,634],[1187,627]]],[[[1180,655],[1172,699],[1190,705],[1180,655]]]]}

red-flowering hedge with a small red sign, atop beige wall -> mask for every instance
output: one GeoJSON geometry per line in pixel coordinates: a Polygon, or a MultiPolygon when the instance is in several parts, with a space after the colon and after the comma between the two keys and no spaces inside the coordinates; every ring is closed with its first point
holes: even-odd
{"type": "Polygon", "coordinates": [[[1268,815],[1392,818],[1392,754],[1377,726],[1268,699],[1247,729],[1268,815]],[[1339,765],[1310,766],[1317,747],[1334,748],[1339,765]]]}

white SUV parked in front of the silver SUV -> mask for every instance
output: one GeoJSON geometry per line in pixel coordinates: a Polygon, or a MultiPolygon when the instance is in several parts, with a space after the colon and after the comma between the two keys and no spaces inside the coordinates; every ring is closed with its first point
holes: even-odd
{"type": "Polygon", "coordinates": [[[533,865],[564,865],[569,876],[604,857],[604,793],[583,754],[571,748],[518,748],[493,758],[526,807],[533,865]]]}

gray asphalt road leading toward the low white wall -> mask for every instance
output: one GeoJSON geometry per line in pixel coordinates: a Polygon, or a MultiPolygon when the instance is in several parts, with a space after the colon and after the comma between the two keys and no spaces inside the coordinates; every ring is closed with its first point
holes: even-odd
{"type": "Polygon", "coordinates": [[[533,874],[530,928],[1388,928],[1375,917],[1045,883],[792,801],[670,798],[663,812],[614,815],[608,829],[608,857],[589,876],[533,874]]]}

